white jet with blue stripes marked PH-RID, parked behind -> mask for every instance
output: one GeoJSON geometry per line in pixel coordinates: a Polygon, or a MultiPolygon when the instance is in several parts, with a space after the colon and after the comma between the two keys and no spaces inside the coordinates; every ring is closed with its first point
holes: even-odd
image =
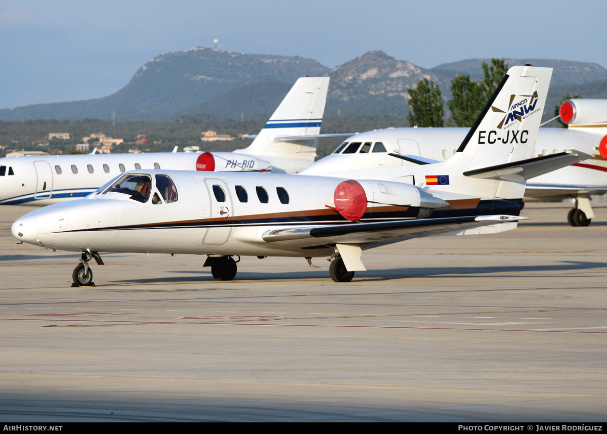
{"type": "Polygon", "coordinates": [[[234,152],[45,155],[0,158],[0,205],[49,205],[82,198],[140,169],[296,173],[313,163],[328,77],[296,81],[245,149],[234,152]]]}

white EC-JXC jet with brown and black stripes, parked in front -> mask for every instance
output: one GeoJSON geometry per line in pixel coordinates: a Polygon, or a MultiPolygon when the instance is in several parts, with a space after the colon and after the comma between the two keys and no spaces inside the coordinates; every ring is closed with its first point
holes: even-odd
{"type": "Polygon", "coordinates": [[[218,280],[236,276],[237,257],[329,257],[330,276],[348,282],[365,270],[363,249],[415,237],[514,229],[525,181],[588,158],[572,149],[533,157],[551,68],[517,66],[487,107],[528,116],[503,124],[483,112],[449,160],[336,178],[132,171],[81,200],[36,209],[13,236],[44,248],[81,252],[74,285],[92,285],[100,252],[206,254],[218,280]],[[530,102],[531,101],[531,102],[530,102]],[[492,137],[494,140],[487,140],[492,137]]]}

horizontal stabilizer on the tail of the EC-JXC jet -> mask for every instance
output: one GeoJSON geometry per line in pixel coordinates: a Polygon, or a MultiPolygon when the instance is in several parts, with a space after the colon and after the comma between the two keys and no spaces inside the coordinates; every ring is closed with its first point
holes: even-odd
{"type": "Polygon", "coordinates": [[[527,160],[514,161],[512,163],[498,164],[483,169],[473,169],[464,172],[464,176],[483,179],[501,179],[509,181],[526,181],[530,178],[555,171],[557,169],[571,166],[583,160],[592,158],[580,149],[570,148],[558,154],[542,155],[541,157],[529,158],[527,160]]]}

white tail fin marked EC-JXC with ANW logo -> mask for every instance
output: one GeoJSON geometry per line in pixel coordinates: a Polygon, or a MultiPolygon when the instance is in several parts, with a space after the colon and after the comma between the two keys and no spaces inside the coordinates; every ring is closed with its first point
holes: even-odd
{"type": "Polygon", "coordinates": [[[537,172],[548,164],[532,157],[551,76],[552,68],[510,68],[455,155],[418,166],[426,179],[422,185],[456,195],[522,199],[525,171],[537,172]]]}

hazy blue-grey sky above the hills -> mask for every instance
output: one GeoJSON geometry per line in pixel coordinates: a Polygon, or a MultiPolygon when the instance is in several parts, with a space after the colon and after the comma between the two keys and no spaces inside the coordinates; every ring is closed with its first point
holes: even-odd
{"type": "Polygon", "coordinates": [[[154,56],[212,47],[335,67],[383,50],[421,67],[544,58],[607,67],[605,0],[0,0],[0,108],[86,100],[154,56]]]}

